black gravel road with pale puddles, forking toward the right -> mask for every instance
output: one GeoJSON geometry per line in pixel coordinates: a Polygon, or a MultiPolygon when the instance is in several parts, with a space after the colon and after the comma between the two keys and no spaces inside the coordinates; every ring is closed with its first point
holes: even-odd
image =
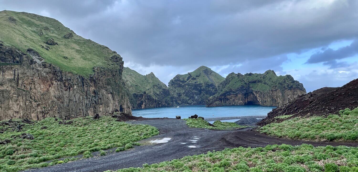
{"type": "Polygon", "coordinates": [[[132,121],[132,124],[149,124],[159,129],[160,134],[149,139],[141,140],[141,146],[122,152],[108,153],[106,156],[81,159],[55,166],[31,169],[31,172],[103,172],[109,169],[141,167],[142,164],[158,163],[184,156],[201,154],[212,150],[222,150],[233,147],[263,147],[267,144],[303,143],[319,145],[358,146],[358,142],[303,142],[269,137],[250,131],[250,128],[236,131],[208,130],[189,128],[185,121],[177,119],[149,119],[132,121]],[[171,138],[166,143],[150,143],[151,140],[171,138]],[[196,140],[196,141],[194,141],[196,140]],[[195,143],[193,143],[195,142],[195,143]],[[182,144],[185,143],[185,144],[182,144]],[[189,146],[193,147],[190,148],[189,146]]]}

